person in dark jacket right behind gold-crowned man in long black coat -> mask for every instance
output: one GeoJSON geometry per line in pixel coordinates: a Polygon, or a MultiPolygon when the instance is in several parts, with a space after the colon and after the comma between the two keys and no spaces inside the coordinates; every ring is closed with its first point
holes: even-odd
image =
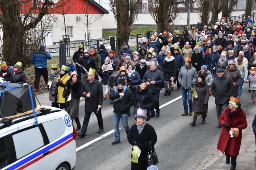
{"type": "MultiPolygon", "coordinates": [[[[89,55],[89,51],[88,50],[85,50],[84,52],[84,57],[82,57],[80,59],[80,61],[78,62],[79,64],[81,64],[87,71],[90,69],[90,68],[94,68],[94,69],[97,69],[96,67],[96,63],[93,59],[92,56],[89,55]]],[[[82,69],[82,74],[81,74],[81,81],[84,83],[86,82],[87,80],[87,73],[84,69],[82,69]]]]}

